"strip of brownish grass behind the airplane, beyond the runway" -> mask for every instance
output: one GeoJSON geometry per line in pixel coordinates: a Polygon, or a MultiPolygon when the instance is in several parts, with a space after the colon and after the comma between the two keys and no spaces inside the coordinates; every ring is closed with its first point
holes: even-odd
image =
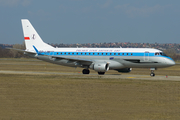
{"type": "MultiPolygon", "coordinates": [[[[2,70],[16,70],[16,71],[37,71],[37,72],[63,72],[63,73],[82,73],[82,68],[72,68],[66,66],[55,65],[43,62],[37,59],[0,59],[0,69],[2,70]]],[[[156,75],[180,76],[180,65],[175,65],[169,68],[159,68],[155,71],[156,75]]],[[[94,70],[91,73],[97,74],[94,70]]],[[[109,70],[106,74],[138,74],[149,75],[148,68],[133,68],[130,73],[118,73],[114,70],[109,70]]]]}

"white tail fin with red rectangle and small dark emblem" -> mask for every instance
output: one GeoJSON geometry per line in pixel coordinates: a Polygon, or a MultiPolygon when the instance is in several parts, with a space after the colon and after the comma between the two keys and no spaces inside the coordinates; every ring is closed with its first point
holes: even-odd
{"type": "Polygon", "coordinates": [[[35,52],[33,46],[36,46],[39,50],[52,50],[54,48],[43,42],[43,40],[38,35],[29,20],[22,19],[21,22],[24,33],[26,51],[35,52]]]}

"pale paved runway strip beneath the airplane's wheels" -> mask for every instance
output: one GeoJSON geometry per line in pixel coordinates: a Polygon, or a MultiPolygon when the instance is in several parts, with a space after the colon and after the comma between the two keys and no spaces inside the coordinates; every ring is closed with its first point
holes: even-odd
{"type": "Polygon", "coordinates": [[[151,77],[148,75],[121,75],[121,74],[105,74],[105,75],[97,75],[97,74],[89,74],[83,75],[82,73],[73,73],[73,72],[32,72],[32,71],[6,71],[1,70],[0,74],[27,74],[27,75],[67,75],[68,77],[76,77],[76,78],[101,78],[101,79],[132,79],[132,80],[164,80],[164,81],[180,81],[180,76],[160,76],[156,75],[155,77],[151,77]]]}

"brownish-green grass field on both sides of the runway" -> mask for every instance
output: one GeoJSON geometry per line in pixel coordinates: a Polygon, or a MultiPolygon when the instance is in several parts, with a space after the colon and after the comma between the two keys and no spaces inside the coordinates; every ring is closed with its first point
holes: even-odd
{"type": "MultiPolygon", "coordinates": [[[[0,59],[0,70],[81,73],[35,59],[0,59]]],[[[156,75],[180,76],[179,65],[156,75]]],[[[96,73],[91,70],[91,73],[96,73]]],[[[120,74],[108,71],[107,74],[120,74]]],[[[149,75],[148,69],[129,74],[149,75]]],[[[0,74],[2,120],[179,120],[180,82],[0,74]]]]}

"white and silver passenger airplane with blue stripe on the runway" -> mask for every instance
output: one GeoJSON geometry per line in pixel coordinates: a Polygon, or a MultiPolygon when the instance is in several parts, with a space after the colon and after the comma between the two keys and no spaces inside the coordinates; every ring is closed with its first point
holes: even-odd
{"type": "Polygon", "coordinates": [[[55,48],[41,39],[28,19],[21,22],[26,50],[16,50],[46,62],[84,68],[83,74],[89,74],[89,69],[104,75],[109,70],[128,73],[132,68],[150,68],[153,77],[157,68],[175,65],[163,51],[153,48],[55,48]]]}

